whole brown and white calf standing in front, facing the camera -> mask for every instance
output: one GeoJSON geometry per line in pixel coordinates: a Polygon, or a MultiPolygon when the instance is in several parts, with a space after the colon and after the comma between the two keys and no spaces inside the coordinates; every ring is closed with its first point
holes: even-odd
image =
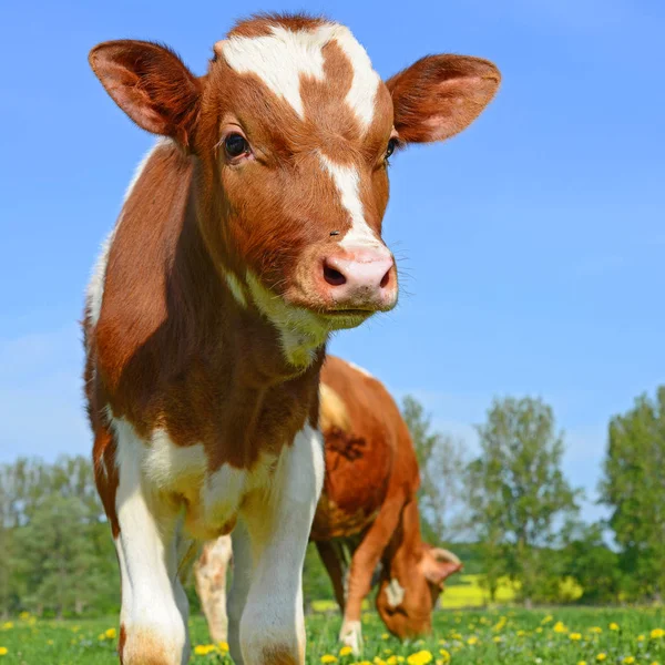
{"type": "Polygon", "coordinates": [[[101,43],[90,63],[162,136],[98,262],[83,324],[121,661],[187,661],[186,539],[237,523],[232,655],[304,663],[326,340],[397,300],[381,241],[388,157],[464,129],[499,73],[432,55],[383,83],[347,28],[304,16],[238,23],[203,76],[144,41],[101,43]]]}

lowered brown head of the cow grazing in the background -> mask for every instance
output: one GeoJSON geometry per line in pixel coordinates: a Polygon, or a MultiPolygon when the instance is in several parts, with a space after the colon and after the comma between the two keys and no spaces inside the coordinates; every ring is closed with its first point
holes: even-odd
{"type": "Polygon", "coordinates": [[[399,579],[385,575],[380,582],[376,603],[386,627],[402,640],[429,633],[443,582],[461,569],[452,552],[423,543],[399,579]]]}

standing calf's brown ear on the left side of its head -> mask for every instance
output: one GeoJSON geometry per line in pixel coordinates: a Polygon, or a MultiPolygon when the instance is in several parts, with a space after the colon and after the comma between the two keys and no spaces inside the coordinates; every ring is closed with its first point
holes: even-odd
{"type": "Polygon", "coordinates": [[[117,40],[98,44],[88,59],[113,101],[140,127],[190,145],[201,83],[173,51],[152,42],[117,40]]]}

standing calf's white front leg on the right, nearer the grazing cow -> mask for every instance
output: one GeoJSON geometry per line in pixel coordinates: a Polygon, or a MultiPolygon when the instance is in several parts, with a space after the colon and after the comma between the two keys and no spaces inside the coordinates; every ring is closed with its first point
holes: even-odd
{"type": "Polygon", "coordinates": [[[305,427],[282,452],[273,487],[243,507],[254,563],[239,626],[245,665],[305,663],[303,563],[323,477],[321,436],[305,427]]]}

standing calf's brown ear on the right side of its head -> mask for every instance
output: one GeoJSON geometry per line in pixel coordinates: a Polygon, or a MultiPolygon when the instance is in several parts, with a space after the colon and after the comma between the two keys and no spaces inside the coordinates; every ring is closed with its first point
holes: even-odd
{"type": "Polygon", "coordinates": [[[406,143],[449,139],[480,115],[500,82],[499,70],[488,60],[427,55],[386,81],[395,129],[406,143]]]}

